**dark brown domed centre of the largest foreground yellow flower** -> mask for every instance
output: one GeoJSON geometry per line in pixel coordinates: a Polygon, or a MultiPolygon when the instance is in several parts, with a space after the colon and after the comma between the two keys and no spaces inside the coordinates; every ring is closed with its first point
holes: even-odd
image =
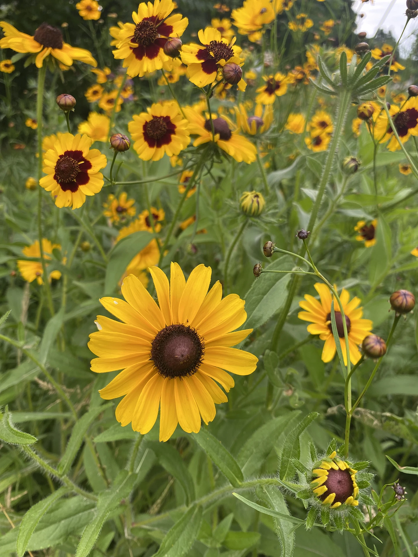
{"type": "Polygon", "coordinates": [[[195,374],[204,354],[205,345],[201,337],[195,329],[182,324],[164,327],[151,346],[151,359],[165,379],[195,374]]]}

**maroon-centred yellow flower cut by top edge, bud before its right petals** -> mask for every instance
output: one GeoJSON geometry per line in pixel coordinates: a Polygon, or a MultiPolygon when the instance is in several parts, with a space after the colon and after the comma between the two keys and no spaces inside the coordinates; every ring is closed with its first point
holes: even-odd
{"type": "Polygon", "coordinates": [[[170,16],[173,9],[172,0],[142,2],[138,12],[132,13],[134,23],[110,28],[116,39],[113,55],[116,60],[123,60],[130,77],[142,77],[162,68],[172,70],[173,59],[164,54],[164,45],[168,37],[181,37],[188,24],[187,17],[182,18],[179,13],[170,16]]]}

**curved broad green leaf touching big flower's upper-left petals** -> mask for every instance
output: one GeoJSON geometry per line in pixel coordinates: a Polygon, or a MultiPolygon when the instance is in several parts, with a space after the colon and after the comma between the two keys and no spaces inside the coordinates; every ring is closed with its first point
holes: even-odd
{"type": "Polygon", "coordinates": [[[154,238],[154,234],[147,231],[134,232],[122,238],[109,253],[109,263],[106,267],[104,292],[105,296],[113,294],[115,286],[123,275],[130,261],[154,238]]]}

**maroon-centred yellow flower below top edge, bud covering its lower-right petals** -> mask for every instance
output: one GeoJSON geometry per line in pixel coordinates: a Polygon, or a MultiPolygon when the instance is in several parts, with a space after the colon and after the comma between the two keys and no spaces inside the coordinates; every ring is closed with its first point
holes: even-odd
{"type": "MultiPolygon", "coordinates": [[[[244,58],[240,58],[242,49],[235,45],[235,37],[229,43],[212,27],[207,27],[205,31],[201,29],[197,36],[202,45],[183,45],[181,59],[187,66],[189,80],[198,87],[205,87],[215,81],[218,70],[226,63],[236,63],[238,66],[244,63],[244,58]]],[[[237,83],[240,91],[244,91],[245,86],[243,79],[237,83]]]]}

